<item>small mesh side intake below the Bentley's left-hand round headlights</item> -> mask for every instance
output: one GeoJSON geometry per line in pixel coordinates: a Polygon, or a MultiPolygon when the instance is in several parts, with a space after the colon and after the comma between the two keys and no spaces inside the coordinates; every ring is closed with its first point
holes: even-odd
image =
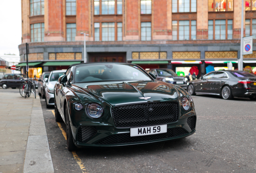
{"type": "Polygon", "coordinates": [[[77,141],[87,142],[96,133],[97,133],[96,127],[93,127],[93,126],[79,127],[78,134],[77,134],[77,141]]]}

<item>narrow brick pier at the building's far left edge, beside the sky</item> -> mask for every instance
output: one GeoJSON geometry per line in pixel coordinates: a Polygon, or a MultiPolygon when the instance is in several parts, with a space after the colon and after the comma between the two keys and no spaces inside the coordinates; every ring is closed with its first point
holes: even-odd
{"type": "Polygon", "coordinates": [[[21,0],[22,43],[30,42],[29,0],[21,0]]]}

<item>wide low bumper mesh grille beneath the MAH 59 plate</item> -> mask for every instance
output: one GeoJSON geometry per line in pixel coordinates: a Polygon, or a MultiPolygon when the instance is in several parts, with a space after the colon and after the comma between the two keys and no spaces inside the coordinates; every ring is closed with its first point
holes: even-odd
{"type": "Polygon", "coordinates": [[[166,139],[170,137],[178,137],[188,133],[182,128],[167,129],[167,133],[157,135],[147,135],[139,137],[130,137],[130,133],[116,134],[106,137],[105,139],[97,142],[97,144],[122,144],[122,143],[136,143],[136,142],[148,142],[159,139],[166,139]]]}

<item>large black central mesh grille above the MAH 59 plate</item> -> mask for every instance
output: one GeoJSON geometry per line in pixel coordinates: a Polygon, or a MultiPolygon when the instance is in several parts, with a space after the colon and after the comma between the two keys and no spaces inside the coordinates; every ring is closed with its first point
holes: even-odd
{"type": "Polygon", "coordinates": [[[142,103],[112,108],[116,127],[137,127],[178,120],[178,103],[142,103]]]}

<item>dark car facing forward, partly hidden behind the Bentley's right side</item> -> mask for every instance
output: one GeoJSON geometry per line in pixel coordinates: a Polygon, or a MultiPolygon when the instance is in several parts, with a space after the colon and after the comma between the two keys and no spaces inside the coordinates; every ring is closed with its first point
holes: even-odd
{"type": "Polygon", "coordinates": [[[157,77],[157,80],[176,84],[183,89],[187,89],[188,87],[188,78],[178,76],[173,70],[169,68],[154,68],[147,70],[147,72],[154,74],[157,77]]]}

